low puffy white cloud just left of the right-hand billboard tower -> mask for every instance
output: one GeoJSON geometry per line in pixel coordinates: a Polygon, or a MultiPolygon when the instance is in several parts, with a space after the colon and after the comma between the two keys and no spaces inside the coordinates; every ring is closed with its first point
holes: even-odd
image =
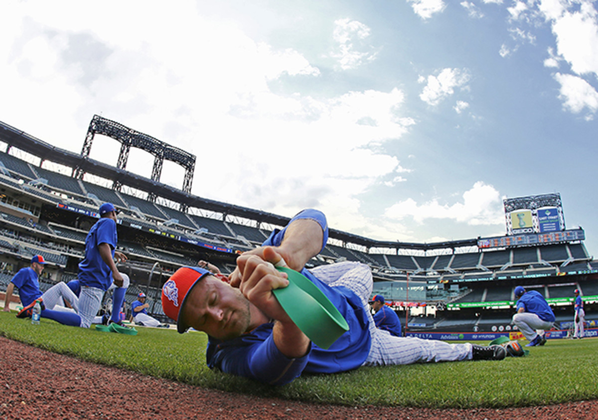
{"type": "Polygon", "coordinates": [[[467,225],[497,225],[504,220],[501,196],[492,185],[478,181],[465,191],[460,203],[440,204],[438,199],[417,204],[413,198],[401,201],[389,207],[385,216],[393,220],[411,217],[416,223],[426,219],[452,219],[467,225]]]}

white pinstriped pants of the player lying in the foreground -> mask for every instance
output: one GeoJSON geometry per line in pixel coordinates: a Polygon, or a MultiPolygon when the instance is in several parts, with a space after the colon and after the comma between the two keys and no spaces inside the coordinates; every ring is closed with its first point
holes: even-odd
{"type": "Polygon", "coordinates": [[[396,337],[388,331],[376,328],[372,318],[370,296],[373,290],[371,269],[359,262],[341,262],[322,265],[310,270],[319,280],[329,286],[344,286],[361,298],[368,315],[372,345],[365,366],[426,363],[432,361],[456,361],[472,358],[469,343],[448,344],[439,340],[414,337],[396,337]]]}

